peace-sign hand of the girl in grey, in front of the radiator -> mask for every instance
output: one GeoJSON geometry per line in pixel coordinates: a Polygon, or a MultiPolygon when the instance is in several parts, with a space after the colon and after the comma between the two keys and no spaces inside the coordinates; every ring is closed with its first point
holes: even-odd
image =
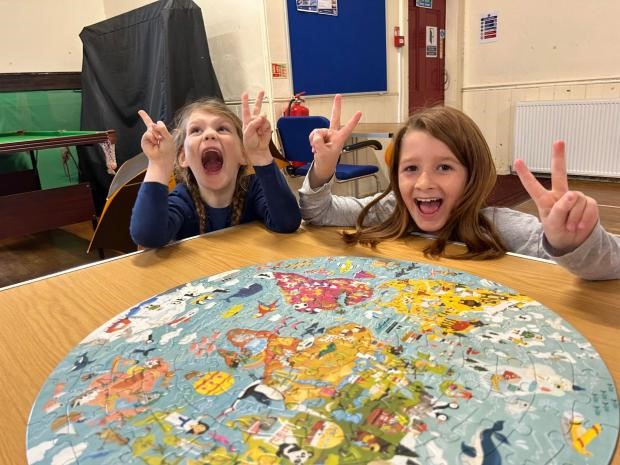
{"type": "Polygon", "coordinates": [[[551,190],[536,180],[523,160],[515,160],[514,168],[538,208],[549,244],[559,254],[579,247],[598,222],[598,205],[583,192],[568,190],[564,142],[553,143],[551,190]]]}

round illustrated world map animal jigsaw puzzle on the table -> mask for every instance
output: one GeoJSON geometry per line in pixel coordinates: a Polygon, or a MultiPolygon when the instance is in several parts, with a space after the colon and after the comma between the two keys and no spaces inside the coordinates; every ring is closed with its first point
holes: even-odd
{"type": "Polygon", "coordinates": [[[608,464],[618,397],[540,303],[439,266],[286,260],[155,296],[32,408],[33,464],[608,464]]]}

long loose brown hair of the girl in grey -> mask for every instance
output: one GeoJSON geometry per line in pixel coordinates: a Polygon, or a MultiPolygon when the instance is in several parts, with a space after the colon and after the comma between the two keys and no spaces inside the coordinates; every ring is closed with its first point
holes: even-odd
{"type": "Polygon", "coordinates": [[[395,134],[394,152],[389,167],[390,183],[380,196],[362,210],[355,232],[342,233],[345,242],[374,246],[383,240],[402,237],[410,232],[423,232],[409,214],[398,185],[398,165],[403,139],[411,131],[424,131],[446,144],[467,169],[468,176],[460,203],[436,235],[436,240],[424,249],[424,253],[433,257],[459,259],[487,259],[503,255],[506,247],[493,224],[481,213],[497,178],[491,151],[476,123],[465,113],[446,106],[418,110],[395,134]],[[390,192],[393,192],[396,198],[392,214],[382,224],[364,226],[368,212],[390,192]],[[448,241],[463,242],[467,250],[458,254],[448,253],[448,241]]]}

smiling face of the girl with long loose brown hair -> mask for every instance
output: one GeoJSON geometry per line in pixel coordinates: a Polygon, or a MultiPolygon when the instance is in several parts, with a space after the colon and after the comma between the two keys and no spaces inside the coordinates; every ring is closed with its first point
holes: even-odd
{"type": "Polygon", "coordinates": [[[467,168],[446,144],[421,130],[404,136],[398,187],[409,214],[422,231],[441,231],[461,202],[466,183],[467,168]]]}

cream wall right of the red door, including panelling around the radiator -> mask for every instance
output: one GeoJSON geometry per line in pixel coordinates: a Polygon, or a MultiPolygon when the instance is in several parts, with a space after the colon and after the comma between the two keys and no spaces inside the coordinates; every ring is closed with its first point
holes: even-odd
{"type": "Polygon", "coordinates": [[[465,0],[463,11],[462,108],[481,127],[499,173],[519,155],[516,102],[620,98],[617,0],[465,0]],[[499,15],[498,40],[480,43],[480,15],[490,11],[499,15]]]}

